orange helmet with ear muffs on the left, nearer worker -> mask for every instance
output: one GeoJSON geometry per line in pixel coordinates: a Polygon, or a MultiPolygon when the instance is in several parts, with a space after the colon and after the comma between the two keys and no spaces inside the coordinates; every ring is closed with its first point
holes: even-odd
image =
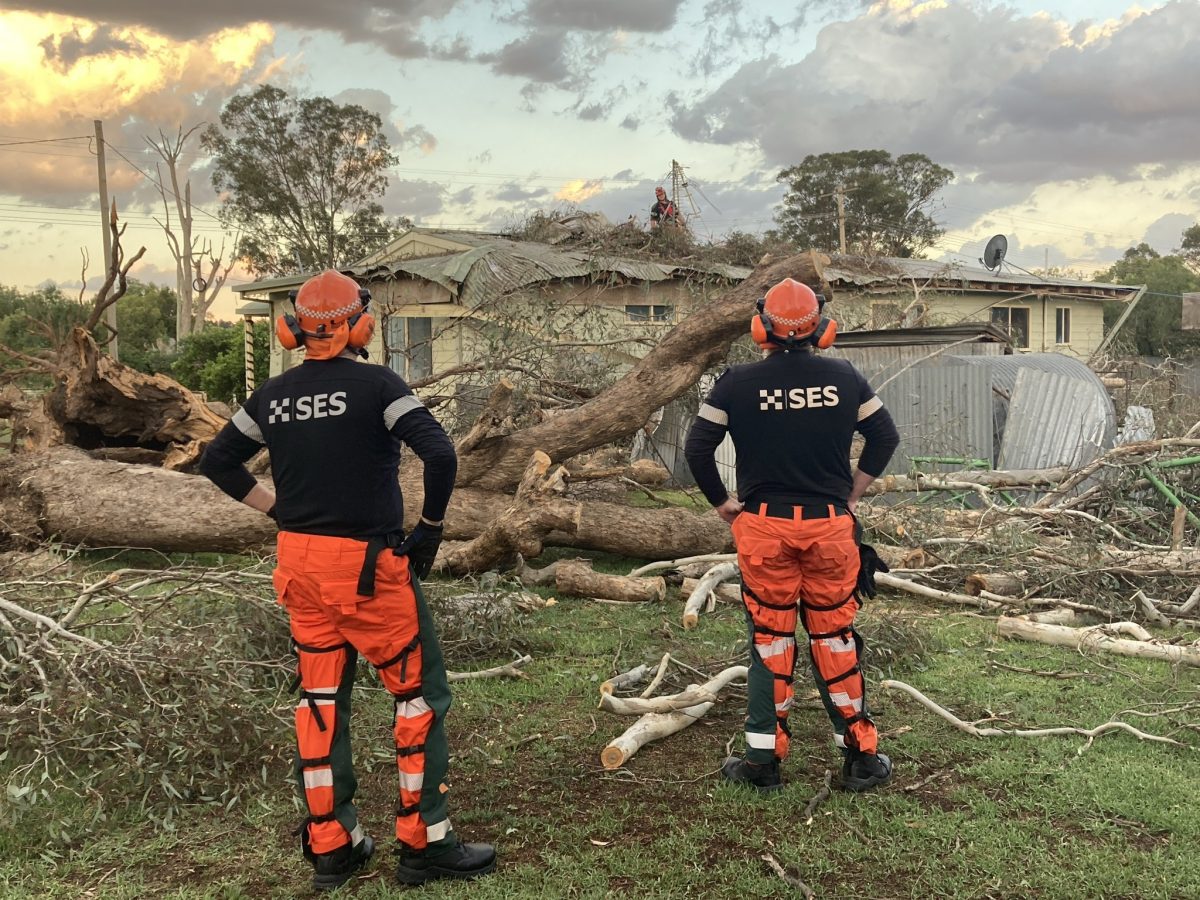
{"type": "Polygon", "coordinates": [[[275,335],[286,350],[305,347],[308,359],[332,359],[347,347],[366,359],[374,334],[374,316],[367,312],[371,292],[354,278],[326,269],[292,293],[295,316],[280,316],[275,335]]]}

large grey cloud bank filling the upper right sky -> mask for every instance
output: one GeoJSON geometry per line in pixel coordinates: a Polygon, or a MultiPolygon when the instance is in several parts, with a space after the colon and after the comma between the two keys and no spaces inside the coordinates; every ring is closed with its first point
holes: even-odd
{"type": "Polygon", "coordinates": [[[757,145],[780,167],[882,146],[1000,181],[1128,176],[1195,158],[1198,46],[1200,4],[1187,0],[1082,46],[1010,7],[876,8],[827,25],[797,62],[767,55],[707,95],[672,96],[672,126],[757,145]]]}

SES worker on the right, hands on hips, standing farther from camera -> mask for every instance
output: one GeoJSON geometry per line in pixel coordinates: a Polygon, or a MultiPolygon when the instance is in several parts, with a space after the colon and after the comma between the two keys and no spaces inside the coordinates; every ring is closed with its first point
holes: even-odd
{"type": "Polygon", "coordinates": [[[900,439],[858,371],[812,352],[830,347],[838,331],[821,316],[823,305],[791,278],[767,292],[750,325],[763,359],[718,379],[685,448],[696,484],[733,527],[750,622],[748,749],[744,760],[726,760],[721,772],[760,791],[782,787],[797,613],[834,742],[845,755],[842,787],[865,791],[892,775],[868,715],[863,641],[854,631],[857,594],[874,595],[874,570],[884,569],[870,547],[859,547],[853,512],[900,439]],[[866,443],[851,474],[856,431],[866,443]],[[726,433],[737,450],[739,499],[728,496],[714,458],[726,433]]]}

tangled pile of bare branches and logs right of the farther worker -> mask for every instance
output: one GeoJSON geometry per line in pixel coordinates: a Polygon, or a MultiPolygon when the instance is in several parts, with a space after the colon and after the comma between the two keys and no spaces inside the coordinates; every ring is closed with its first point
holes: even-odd
{"type": "Polygon", "coordinates": [[[1117,446],[1074,470],[889,476],[859,514],[895,547],[888,587],[998,613],[1070,608],[1195,628],[1195,464],[1200,439],[1182,437],[1117,446]]]}

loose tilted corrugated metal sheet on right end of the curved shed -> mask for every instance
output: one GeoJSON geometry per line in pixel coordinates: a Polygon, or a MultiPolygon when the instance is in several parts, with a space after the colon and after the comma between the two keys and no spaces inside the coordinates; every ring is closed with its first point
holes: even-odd
{"type": "MultiPolygon", "coordinates": [[[[1099,406],[1086,380],[1061,372],[1021,370],[1008,404],[998,467],[1078,468],[1091,462],[1111,445],[1099,406]]],[[[1106,406],[1111,409],[1112,404],[1106,406]]]]}

